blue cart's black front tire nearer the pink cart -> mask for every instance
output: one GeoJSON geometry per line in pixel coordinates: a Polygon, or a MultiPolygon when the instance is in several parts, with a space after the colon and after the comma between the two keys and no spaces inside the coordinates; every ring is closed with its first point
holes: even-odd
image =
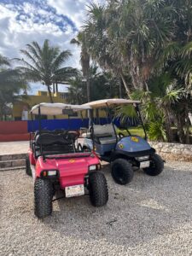
{"type": "Polygon", "coordinates": [[[111,175],[116,183],[125,185],[130,183],[133,178],[133,168],[128,160],[119,158],[112,163],[111,175]]]}

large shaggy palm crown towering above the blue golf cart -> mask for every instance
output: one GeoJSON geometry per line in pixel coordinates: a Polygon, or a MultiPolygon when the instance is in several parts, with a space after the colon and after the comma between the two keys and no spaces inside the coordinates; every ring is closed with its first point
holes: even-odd
{"type": "MultiPolygon", "coordinates": [[[[169,2],[169,1],[168,1],[169,2]]],[[[166,1],[108,1],[91,4],[83,32],[88,51],[101,67],[116,72],[130,95],[132,89],[148,90],[154,62],[172,40],[175,9],[166,1]],[[125,76],[131,76],[132,88],[125,76]]]]}

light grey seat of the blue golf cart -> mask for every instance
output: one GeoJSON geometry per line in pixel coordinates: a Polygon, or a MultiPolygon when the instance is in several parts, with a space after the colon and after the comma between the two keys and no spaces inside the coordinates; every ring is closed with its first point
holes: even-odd
{"type": "MultiPolygon", "coordinates": [[[[116,129],[116,126],[114,125],[116,129]]],[[[116,137],[113,130],[113,125],[94,125],[94,136],[96,138],[96,143],[100,143],[102,145],[106,144],[114,144],[116,143],[116,137]]]]}

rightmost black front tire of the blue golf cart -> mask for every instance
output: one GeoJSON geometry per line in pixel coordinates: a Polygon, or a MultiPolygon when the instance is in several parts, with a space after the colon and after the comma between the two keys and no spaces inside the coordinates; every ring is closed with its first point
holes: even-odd
{"type": "Polygon", "coordinates": [[[164,169],[164,161],[159,154],[153,154],[150,157],[150,166],[143,168],[143,171],[150,176],[159,175],[164,169]]]}

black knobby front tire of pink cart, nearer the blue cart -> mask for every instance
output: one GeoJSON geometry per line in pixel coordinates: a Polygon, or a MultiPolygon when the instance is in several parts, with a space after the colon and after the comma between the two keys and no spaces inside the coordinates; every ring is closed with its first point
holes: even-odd
{"type": "Polygon", "coordinates": [[[89,177],[90,202],[102,207],[108,202],[108,184],[102,172],[92,172],[89,177]]]}

